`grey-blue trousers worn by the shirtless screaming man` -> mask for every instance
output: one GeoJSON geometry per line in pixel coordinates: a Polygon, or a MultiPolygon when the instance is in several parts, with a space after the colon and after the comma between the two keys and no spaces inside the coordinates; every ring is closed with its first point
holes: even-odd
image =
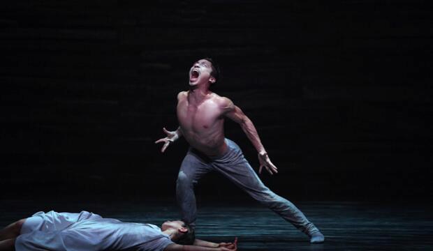
{"type": "Polygon", "coordinates": [[[226,139],[226,144],[228,151],[217,157],[204,155],[192,148],[186,153],[176,184],[177,203],[181,208],[184,222],[195,226],[197,206],[193,185],[204,174],[217,171],[305,234],[318,231],[291,201],[276,195],[260,181],[235,142],[226,139]]]}

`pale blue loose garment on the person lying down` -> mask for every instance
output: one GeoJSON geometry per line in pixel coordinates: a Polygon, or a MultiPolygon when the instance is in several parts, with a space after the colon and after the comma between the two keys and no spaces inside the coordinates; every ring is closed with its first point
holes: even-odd
{"type": "Polygon", "coordinates": [[[155,250],[173,243],[159,227],[81,213],[39,212],[27,218],[15,250],[155,250]]]}

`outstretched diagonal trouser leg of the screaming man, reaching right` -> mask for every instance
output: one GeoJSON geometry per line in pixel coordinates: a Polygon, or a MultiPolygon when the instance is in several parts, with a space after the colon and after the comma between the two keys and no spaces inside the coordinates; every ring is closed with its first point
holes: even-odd
{"type": "Polygon", "coordinates": [[[267,188],[260,181],[260,178],[254,172],[254,169],[251,168],[249,162],[244,158],[239,146],[234,142],[229,142],[230,151],[223,158],[212,162],[214,168],[251,195],[251,197],[281,215],[284,220],[287,220],[305,234],[318,231],[314,224],[309,222],[304,213],[291,201],[284,199],[267,188]]]}

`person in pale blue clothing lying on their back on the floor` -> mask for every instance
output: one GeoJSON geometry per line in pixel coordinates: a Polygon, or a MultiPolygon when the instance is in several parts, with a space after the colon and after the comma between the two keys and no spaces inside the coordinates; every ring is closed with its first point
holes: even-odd
{"type": "Polygon", "coordinates": [[[151,224],[122,222],[100,215],[38,212],[0,230],[0,250],[237,250],[234,243],[198,240],[184,222],[151,224]]]}

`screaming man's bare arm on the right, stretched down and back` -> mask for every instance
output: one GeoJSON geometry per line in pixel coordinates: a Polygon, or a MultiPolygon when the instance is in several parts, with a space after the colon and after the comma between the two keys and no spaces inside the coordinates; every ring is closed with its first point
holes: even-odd
{"type": "Polygon", "coordinates": [[[224,116],[228,117],[228,119],[235,121],[236,123],[239,123],[240,127],[245,132],[248,139],[256,148],[258,152],[258,160],[260,162],[258,173],[261,174],[263,167],[265,167],[267,169],[267,172],[269,172],[270,174],[277,174],[277,167],[275,167],[275,165],[272,164],[272,162],[270,161],[270,158],[265,151],[265,147],[263,146],[262,142],[260,142],[260,137],[258,137],[256,127],[254,126],[251,119],[249,119],[247,115],[242,112],[242,109],[234,105],[233,102],[228,98],[223,98],[222,108],[224,111],[224,116]]]}

